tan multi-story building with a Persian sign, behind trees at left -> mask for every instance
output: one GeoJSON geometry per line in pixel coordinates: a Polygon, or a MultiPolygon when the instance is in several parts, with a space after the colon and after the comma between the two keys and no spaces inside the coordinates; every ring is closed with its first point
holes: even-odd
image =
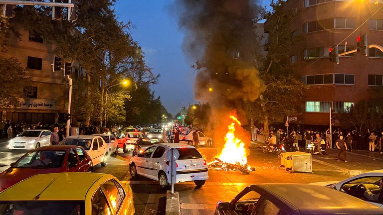
{"type": "MultiPolygon", "coordinates": [[[[27,30],[19,30],[19,33],[20,38],[7,39],[7,52],[0,53],[0,56],[16,58],[22,67],[28,69],[26,76],[30,77],[33,93],[26,95],[27,99],[20,100],[18,107],[0,108],[1,119],[10,120],[15,124],[65,122],[64,113],[68,107],[67,79],[60,66],[54,68],[54,60],[56,67],[59,60],[54,56],[54,45],[27,30]]],[[[64,63],[61,67],[64,67],[64,63]]],[[[83,73],[82,68],[72,69],[83,73]]]]}

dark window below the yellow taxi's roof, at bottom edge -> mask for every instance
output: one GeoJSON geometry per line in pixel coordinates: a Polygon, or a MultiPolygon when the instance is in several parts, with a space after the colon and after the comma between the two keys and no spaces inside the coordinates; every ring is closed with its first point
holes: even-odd
{"type": "Polygon", "coordinates": [[[1,201],[0,215],[84,215],[83,201],[1,201]],[[54,212],[54,213],[52,213],[54,212]]]}

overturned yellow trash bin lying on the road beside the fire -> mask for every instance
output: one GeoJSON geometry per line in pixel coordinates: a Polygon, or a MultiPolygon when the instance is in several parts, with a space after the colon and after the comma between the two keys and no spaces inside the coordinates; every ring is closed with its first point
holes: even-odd
{"type": "Polygon", "coordinates": [[[312,173],[311,154],[305,152],[281,153],[281,166],[287,171],[312,173]]]}

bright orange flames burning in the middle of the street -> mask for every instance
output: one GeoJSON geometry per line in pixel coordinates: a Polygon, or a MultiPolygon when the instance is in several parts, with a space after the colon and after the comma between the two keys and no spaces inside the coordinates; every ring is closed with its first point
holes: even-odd
{"type": "Polygon", "coordinates": [[[235,136],[235,125],[240,126],[241,122],[234,115],[230,115],[229,117],[233,122],[228,125],[229,131],[226,133],[225,144],[218,159],[226,163],[239,163],[245,166],[247,165],[248,150],[246,149],[245,143],[235,136]]]}

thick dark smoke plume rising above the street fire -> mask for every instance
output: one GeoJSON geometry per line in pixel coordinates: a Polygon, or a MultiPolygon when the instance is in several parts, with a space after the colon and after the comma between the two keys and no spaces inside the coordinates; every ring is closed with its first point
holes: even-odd
{"type": "Polygon", "coordinates": [[[184,52],[197,62],[195,99],[210,105],[209,126],[220,141],[228,114],[236,109],[246,124],[244,103],[264,90],[254,66],[259,7],[252,0],[177,0],[172,9],[186,34],[184,52]]]}

